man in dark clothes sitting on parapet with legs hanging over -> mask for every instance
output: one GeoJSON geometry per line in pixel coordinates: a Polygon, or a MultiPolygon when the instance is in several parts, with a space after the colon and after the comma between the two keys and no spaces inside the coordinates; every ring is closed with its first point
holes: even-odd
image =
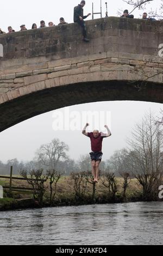
{"type": "Polygon", "coordinates": [[[74,7],[73,21],[77,22],[80,25],[80,27],[83,28],[83,40],[85,42],[89,42],[89,39],[87,39],[87,32],[86,32],[86,26],[85,26],[84,19],[86,19],[91,14],[89,13],[86,16],[83,16],[84,5],[85,5],[85,1],[81,1],[81,3],[78,4],[78,6],[74,7]]]}

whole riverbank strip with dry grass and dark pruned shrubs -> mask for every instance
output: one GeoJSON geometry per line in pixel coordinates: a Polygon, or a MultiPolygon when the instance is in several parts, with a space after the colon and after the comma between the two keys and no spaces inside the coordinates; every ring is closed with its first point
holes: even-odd
{"type": "MultiPolygon", "coordinates": [[[[45,178],[40,170],[39,178],[45,178]]],[[[37,170],[38,173],[38,170],[37,170]]],[[[56,173],[57,174],[57,173],[56,173]]],[[[126,177],[127,176],[127,177],[126,177]]],[[[4,198],[0,199],[0,210],[12,210],[21,208],[37,208],[44,206],[71,206],[83,204],[105,204],[105,203],[123,203],[138,202],[146,200],[143,198],[143,188],[135,178],[115,177],[113,173],[101,175],[98,184],[92,182],[91,172],[72,173],[70,176],[61,176],[55,184],[51,184],[51,179],[42,181],[40,191],[37,190],[38,184],[35,184],[35,175],[33,173],[34,184],[33,192],[10,192],[4,191],[4,198]],[[127,178],[127,184],[126,184],[127,178]],[[51,190],[52,188],[52,190],[51,190]]],[[[31,178],[28,175],[28,179],[31,178]]],[[[8,180],[5,180],[8,185],[8,180]]],[[[13,186],[31,187],[27,181],[13,181],[13,186]]],[[[150,200],[150,199],[148,199],[150,200]]],[[[159,198],[151,198],[159,200],[159,198]]]]}

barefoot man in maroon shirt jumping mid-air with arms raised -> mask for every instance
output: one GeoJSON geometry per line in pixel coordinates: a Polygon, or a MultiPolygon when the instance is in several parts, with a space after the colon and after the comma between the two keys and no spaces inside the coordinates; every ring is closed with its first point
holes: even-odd
{"type": "Polygon", "coordinates": [[[92,163],[92,175],[94,176],[94,182],[98,182],[99,179],[99,164],[102,160],[102,141],[103,138],[111,136],[111,132],[107,125],[105,125],[108,133],[99,132],[97,130],[93,132],[86,132],[86,127],[89,126],[87,123],[82,131],[82,133],[89,137],[91,140],[91,163],[92,163]]]}

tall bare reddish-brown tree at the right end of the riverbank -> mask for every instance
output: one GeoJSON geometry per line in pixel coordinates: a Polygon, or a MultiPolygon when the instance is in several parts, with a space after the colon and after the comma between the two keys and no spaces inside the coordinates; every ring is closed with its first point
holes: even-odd
{"type": "Polygon", "coordinates": [[[141,124],[136,124],[132,136],[128,139],[131,172],[143,187],[143,198],[156,199],[163,177],[162,130],[148,113],[141,124]]]}

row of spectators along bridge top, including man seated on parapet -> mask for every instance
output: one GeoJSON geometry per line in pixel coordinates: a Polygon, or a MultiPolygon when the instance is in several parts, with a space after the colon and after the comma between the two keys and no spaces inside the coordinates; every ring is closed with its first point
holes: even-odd
{"type": "MultiPolygon", "coordinates": [[[[86,26],[85,26],[84,19],[86,19],[86,17],[88,17],[91,14],[89,13],[86,16],[83,15],[84,5],[85,5],[85,1],[81,1],[80,4],[78,4],[76,7],[74,7],[74,19],[73,20],[74,20],[74,22],[77,22],[80,27],[82,27],[82,29],[83,29],[83,40],[84,41],[89,41],[89,39],[87,39],[86,26]]],[[[106,15],[105,17],[108,17],[108,12],[107,11],[106,11],[105,15],[106,15]]],[[[129,14],[128,10],[126,9],[126,10],[123,11],[123,15],[121,16],[121,18],[134,19],[134,15],[129,14]]],[[[142,19],[143,20],[155,21],[154,18],[147,17],[147,13],[143,13],[142,19]]],[[[61,17],[60,22],[59,22],[58,25],[60,26],[60,25],[65,25],[65,24],[67,24],[67,22],[65,22],[63,17],[61,17]]],[[[53,26],[55,26],[55,25],[52,21],[48,22],[48,27],[53,27],[53,26]]],[[[40,21],[40,26],[39,27],[37,27],[36,23],[33,23],[33,25],[32,25],[32,29],[45,28],[45,27],[47,27],[47,26],[46,26],[45,21],[43,21],[43,20],[40,21]]],[[[20,31],[26,31],[26,30],[27,30],[26,25],[22,24],[20,26],[20,31]]],[[[11,26],[9,26],[8,27],[8,33],[13,33],[13,32],[15,32],[15,30],[12,29],[11,26]]],[[[1,34],[6,34],[6,33],[4,31],[2,31],[2,29],[0,28],[0,35],[1,34]]]]}

